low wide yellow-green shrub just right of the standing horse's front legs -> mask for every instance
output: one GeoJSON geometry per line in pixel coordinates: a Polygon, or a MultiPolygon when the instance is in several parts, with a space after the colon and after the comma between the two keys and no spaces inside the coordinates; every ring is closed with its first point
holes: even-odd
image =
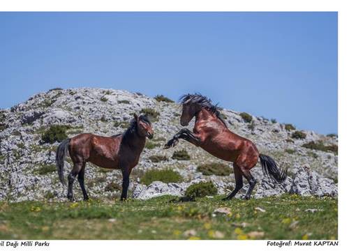
{"type": "Polygon", "coordinates": [[[163,183],[177,183],[182,181],[182,177],[179,173],[174,172],[171,169],[156,170],[152,169],[145,172],[144,176],[140,179],[140,182],[149,185],[153,181],[162,181],[163,183]]]}

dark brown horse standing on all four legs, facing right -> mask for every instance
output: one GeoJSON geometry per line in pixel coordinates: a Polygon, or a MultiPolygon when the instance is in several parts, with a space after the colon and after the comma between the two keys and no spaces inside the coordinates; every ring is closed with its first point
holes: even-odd
{"type": "Polygon", "coordinates": [[[69,151],[73,160],[73,169],[68,175],[68,199],[73,201],[73,182],[77,176],[84,200],[89,199],[84,188],[84,172],[86,162],[92,162],[98,167],[121,169],[122,192],[121,200],[127,198],[128,184],[133,167],[138,164],[140,153],[145,145],[145,138],[151,139],[154,135],[151,123],[147,116],[134,115],[128,129],[119,135],[103,137],[82,133],[59,144],[56,155],[56,164],[61,183],[66,185],[63,168],[66,152],[69,151]]]}

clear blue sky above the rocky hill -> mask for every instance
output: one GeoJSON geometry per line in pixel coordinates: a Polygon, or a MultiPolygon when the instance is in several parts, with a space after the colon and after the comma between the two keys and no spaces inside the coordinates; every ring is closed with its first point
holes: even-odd
{"type": "Polygon", "coordinates": [[[0,13],[0,107],[126,89],[337,132],[336,13],[0,13]]]}

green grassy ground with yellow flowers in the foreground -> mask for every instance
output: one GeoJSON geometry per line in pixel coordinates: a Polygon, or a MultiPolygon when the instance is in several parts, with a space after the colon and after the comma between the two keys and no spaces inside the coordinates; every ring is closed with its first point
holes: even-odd
{"type": "Polygon", "coordinates": [[[1,202],[0,239],[246,239],[251,231],[264,232],[255,238],[265,239],[337,238],[336,199],[296,195],[249,201],[221,201],[219,196],[183,203],[170,199],[1,202]],[[232,213],[212,215],[221,206],[232,213]],[[307,208],[322,211],[306,212],[307,208]],[[243,222],[247,226],[239,226],[243,222]],[[191,229],[194,236],[185,234],[191,229]]]}

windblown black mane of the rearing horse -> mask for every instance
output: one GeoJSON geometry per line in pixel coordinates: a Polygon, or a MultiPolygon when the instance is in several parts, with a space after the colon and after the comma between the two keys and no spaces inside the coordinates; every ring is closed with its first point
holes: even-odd
{"type": "Polygon", "coordinates": [[[213,105],[211,100],[200,93],[184,94],[179,98],[181,105],[200,105],[200,107],[207,109],[211,114],[215,114],[219,120],[221,120],[225,127],[228,127],[225,123],[221,112],[219,112],[218,103],[213,105]]]}

